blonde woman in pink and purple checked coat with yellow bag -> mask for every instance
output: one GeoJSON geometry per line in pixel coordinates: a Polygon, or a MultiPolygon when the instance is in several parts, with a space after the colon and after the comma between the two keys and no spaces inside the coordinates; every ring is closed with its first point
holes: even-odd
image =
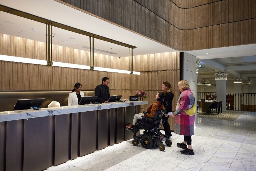
{"type": "Polygon", "coordinates": [[[172,117],[175,117],[174,132],[176,134],[184,135],[184,142],[177,143],[177,146],[184,149],[180,151],[182,154],[194,155],[195,153],[192,149],[191,135],[194,135],[195,98],[189,88],[189,83],[187,81],[179,81],[178,88],[181,94],[177,101],[176,110],[173,112],[172,117]]]}

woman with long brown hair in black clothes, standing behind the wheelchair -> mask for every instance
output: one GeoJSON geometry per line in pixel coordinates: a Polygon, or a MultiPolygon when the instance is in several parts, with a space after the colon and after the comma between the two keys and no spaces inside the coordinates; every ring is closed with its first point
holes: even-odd
{"type": "Polygon", "coordinates": [[[162,83],[162,90],[163,90],[163,93],[164,93],[164,102],[163,102],[163,106],[165,108],[165,111],[166,111],[166,114],[163,115],[163,129],[164,129],[164,134],[167,135],[167,138],[169,139],[171,136],[172,136],[172,132],[171,132],[171,129],[170,129],[170,125],[168,123],[168,118],[169,118],[169,115],[168,113],[170,114],[172,111],[173,111],[173,108],[172,108],[172,102],[173,102],[173,88],[171,86],[171,84],[168,82],[168,81],[165,81],[162,83]],[[167,105],[167,103],[168,105],[167,105]]]}

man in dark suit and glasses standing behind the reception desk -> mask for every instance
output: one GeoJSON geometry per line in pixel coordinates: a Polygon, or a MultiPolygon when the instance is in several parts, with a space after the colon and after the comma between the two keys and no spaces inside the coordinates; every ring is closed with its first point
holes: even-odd
{"type": "Polygon", "coordinates": [[[99,96],[97,102],[107,103],[110,97],[109,93],[109,78],[103,77],[102,84],[97,85],[95,88],[95,96],[99,96]]]}

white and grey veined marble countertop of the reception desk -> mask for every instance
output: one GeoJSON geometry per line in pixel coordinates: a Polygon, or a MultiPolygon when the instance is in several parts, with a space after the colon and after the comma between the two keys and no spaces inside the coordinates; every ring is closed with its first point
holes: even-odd
{"type": "Polygon", "coordinates": [[[0,112],[0,122],[14,121],[19,119],[47,117],[47,116],[77,113],[77,112],[87,112],[87,111],[93,111],[93,110],[122,108],[122,107],[145,105],[145,104],[148,104],[148,101],[126,101],[126,102],[113,102],[113,103],[103,103],[103,104],[41,108],[39,110],[29,109],[29,110],[6,111],[6,112],[0,112]]]}

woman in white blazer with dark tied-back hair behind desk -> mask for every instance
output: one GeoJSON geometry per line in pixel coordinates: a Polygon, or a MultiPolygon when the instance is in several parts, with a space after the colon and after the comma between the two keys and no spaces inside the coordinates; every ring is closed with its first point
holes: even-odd
{"type": "Polygon", "coordinates": [[[83,94],[83,92],[81,92],[81,90],[82,90],[82,84],[75,83],[72,93],[69,93],[69,95],[68,95],[68,102],[67,102],[68,106],[78,105],[78,103],[84,96],[84,94],[83,94]]]}

